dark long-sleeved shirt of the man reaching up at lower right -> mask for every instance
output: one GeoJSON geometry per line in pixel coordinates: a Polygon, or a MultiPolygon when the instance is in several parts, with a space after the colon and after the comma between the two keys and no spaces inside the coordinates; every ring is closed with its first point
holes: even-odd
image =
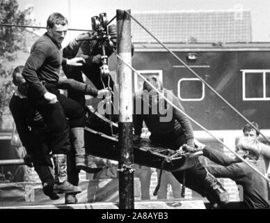
{"type": "MultiPolygon", "coordinates": [[[[236,162],[235,159],[207,147],[204,149],[203,154],[213,162],[221,164],[215,167],[207,167],[207,170],[211,174],[217,178],[235,180],[237,185],[243,187],[244,202],[248,208],[270,207],[267,198],[266,180],[251,169],[251,167],[248,167],[248,164],[245,162],[236,162]]],[[[256,168],[258,167],[256,162],[251,162],[251,160],[248,160],[248,162],[256,168]]]]}

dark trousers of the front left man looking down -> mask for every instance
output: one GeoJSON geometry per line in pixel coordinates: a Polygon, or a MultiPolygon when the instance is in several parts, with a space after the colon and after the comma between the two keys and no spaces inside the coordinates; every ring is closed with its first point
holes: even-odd
{"type": "Polygon", "coordinates": [[[40,112],[49,130],[53,154],[67,154],[70,151],[70,128],[84,127],[84,107],[78,102],[61,95],[55,86],[46,89],[57,96],[58,102],[49,104],[45,98],[35,98],[35,91],[29,88],[29,100],[40,112]],[[70,126],[67,121],[69,118],[70,126]]]}

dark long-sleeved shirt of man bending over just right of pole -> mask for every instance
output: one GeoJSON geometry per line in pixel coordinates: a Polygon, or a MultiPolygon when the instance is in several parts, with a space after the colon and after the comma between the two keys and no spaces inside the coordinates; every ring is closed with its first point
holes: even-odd
{"type": "MultiPolygon", "coordinates": [[[[142,99],[142,93],[138,92],[134,94],[134,116],[133,116],[133,124],[134,124],[134,133],[137,135],[141,135],[141,129],[143,127],[143,121],[145,121],[145,125],[148,127],[148,130],[151,132],[151,135],[155,137],[159,137],[164,134],[170,134],[173,132],[183,132],[184,137],[187,141],[187,144],[193,146],[193,128],[191,123],[184,114],[179,112],[177,109],[169,105],[165,102],[165,106],[161,106],[166,108],[166,113],[162,112],[157,114],[151,114],[151,106],[148,105],[145,100],[142,99]],[[146,110],[143,108],[144,106],[150,107],[149,114],[145,114],[146,110]],[[171,117],[170,114],[171,113],[171,117]],[[170,118],[165,118],[165,117],[170,118]],[[165,118],[163,121],[160,118],[165,118]]],[[[181,105],[180,100],[171,92],[164,89],[164,95],[173,102],[177,108],[184,111],[184,108],[181,105]]],[[[157,109],[159,110],[159,109],[157,109]]],[[[161,109],[160,109],[161,111],[161,109]]]]}

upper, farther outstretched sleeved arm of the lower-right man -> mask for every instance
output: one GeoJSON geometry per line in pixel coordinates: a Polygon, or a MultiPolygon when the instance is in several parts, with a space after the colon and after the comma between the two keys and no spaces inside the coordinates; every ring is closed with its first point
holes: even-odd
{"type": "Polygon", "coordinates": [[[224,153],[217,151],[216,149],[210,148],[209,146],[205,146],[202,150],[203,155],[209,160],[216,162],[217,164],[228,166],[235,162],[241,162],[241,160],[233,159],[224,153]]]}

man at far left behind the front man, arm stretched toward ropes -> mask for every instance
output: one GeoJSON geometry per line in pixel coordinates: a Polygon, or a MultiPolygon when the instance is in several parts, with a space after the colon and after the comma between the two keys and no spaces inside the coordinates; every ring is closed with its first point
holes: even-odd
{"type": "MultiPolygon", "coordinates": [[[[28,84],[26,84],[24,77],[22,77],[23,68],[23,66],[18,66],[13,71],[13,83],[15,86],[17,86],[17,90],[10,100],[10,111],[13,114],[19,137],[28,153],[24,158],[26,164],[31,163],[31,156],[33,156],[33,165],[35,167],[35,171],[37,171],[38,175],[40,176],[40,180],[42,181],[43,191],[51,199],[57,199],[58,197],[56,194],[54,194],[54,176],[51,174],[53,165],[49,156],[51,144],[47,126],[45,125],[40,114],[35,111],[26,97],[28,84]]],[[[98,93],[108,93],[106,90],[95,91],[94,89],[91,89],[90,86],[75,82],[71,79],[61,79],[58,83],[58,87],[61,89],[68,89],[72,87],[77,91],[81,91],[93,96],[97,96],[98,93]]],[[[81,155],[81,153],[79,153],[79,155],[81,155]]],[[[66,171],[68,171],[70,174],[74,173],[72,174],[72,176],[75,176],[74,181],[76,181],[76,176],[79,179],[79,172],[76,171],[75,168],[73,171],[69,171],[68,169],[63,171],[65,171],[65,174],[66,171]]],[[[69,181],[72,180],[70,179],[72,178],[70,177],[70,174],[67,176],[69,181]]],[[[77,180],[77,185],[78,182],[79,180],[77,180]]]]}

